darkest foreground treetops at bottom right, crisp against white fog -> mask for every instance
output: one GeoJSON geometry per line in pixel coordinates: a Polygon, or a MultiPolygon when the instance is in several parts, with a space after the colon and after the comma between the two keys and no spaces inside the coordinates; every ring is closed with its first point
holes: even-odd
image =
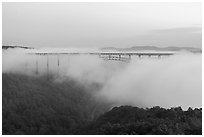
{"type": "Polygon", "coordinates": [[[202,109],[115,107],[82,134],[202,134],[202,109]]]}

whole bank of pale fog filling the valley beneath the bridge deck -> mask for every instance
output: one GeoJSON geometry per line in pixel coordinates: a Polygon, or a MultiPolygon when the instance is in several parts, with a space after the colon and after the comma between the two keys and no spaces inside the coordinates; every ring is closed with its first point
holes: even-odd
{"type": "Polygon", "coordinates": [[[122,62],[97,55],[40,56],[8,50],[3,53],[2,71],[30,76],[53,74],[56,82],[69,77],[87,87],[98,84],[100,88],[93,95],[114,105],[187,109],[202,107],[201,61],[201,54],[185,52],[160,59],[132,57],[130,62],[122,62]]]}

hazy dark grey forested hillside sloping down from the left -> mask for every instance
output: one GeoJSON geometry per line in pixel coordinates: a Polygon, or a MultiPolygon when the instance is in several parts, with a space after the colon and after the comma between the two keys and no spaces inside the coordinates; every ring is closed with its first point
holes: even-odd
{"type": "Polygon", "coordinates": [[[3,134],[74,134],[107,110],[85,88],[66,79],[2,76],[3,134]]]}

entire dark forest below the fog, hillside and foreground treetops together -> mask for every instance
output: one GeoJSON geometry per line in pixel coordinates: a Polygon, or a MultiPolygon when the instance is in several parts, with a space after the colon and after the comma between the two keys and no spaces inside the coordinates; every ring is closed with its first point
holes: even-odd
{"type": "Polygon", "coordinates": [[[2,79],[3,134],[202,134],[202,109],[121,106],[104,113],[110,105],[73,80],[2,79]]]}

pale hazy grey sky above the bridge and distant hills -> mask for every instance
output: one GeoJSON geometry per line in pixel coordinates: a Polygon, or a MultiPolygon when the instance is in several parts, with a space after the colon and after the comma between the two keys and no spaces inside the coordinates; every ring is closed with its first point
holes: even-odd
{"type": "Polygon", "coordinates": [[[202,47],[201,3],[3,3],[3,44],[202,47]]]}

